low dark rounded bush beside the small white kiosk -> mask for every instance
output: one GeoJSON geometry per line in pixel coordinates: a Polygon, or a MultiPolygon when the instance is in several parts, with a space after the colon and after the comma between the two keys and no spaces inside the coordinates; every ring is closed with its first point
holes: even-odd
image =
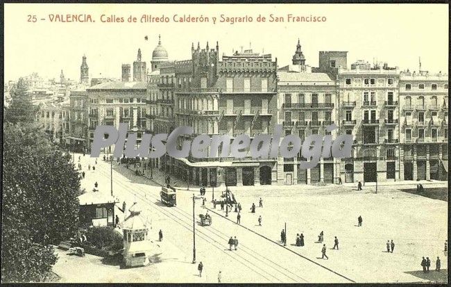
{"type": "Polygon", "coordinates": [[[121,234],[112,227],[91,227],[87,229],[85,235],[92,247],[107,251],[119,251],[124,248],[121,234]]]}

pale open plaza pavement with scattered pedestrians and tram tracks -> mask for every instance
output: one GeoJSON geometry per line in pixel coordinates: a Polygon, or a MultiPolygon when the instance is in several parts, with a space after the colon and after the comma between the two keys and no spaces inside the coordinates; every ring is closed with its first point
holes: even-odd
{"type": "MultiPolygon", "coordinates": [[[[82,158],[82,161],[94,162],[94,159],[89,156],[85,156],[85,158],[82,156],[82,158]]],[[[82,186],[88,190],[88,188],[94,187],[95,181],[98,181],[99,189],[101,191],[106,189],[104,192],[109,192],[109,163],[105,163],[99,158],[98,165],[96,172],[87,172],[82,186]]],[[[83,167],[84,170],[85,168],[83,167]]],[[[113,169],[113,179],[117,181],[117,184],[114,184],[114,195],[120,197],[120,202],[126,200],[130,206],[136,198],[133,194],[137,192],[144,196],[147,191],[152,192],[154,195],[152,200],[158,196],[159,188],[153,186],[155,183],[152,181],[144,177],[136,177],[133,171],[127,170],[124,165],[117,166],[114,163],[113,169]],[[124,174],[124,177],[121,177],[121,174],[124,174]],[[133,186],[137,189],[130,190],[129,186],[124,185],[126,182],[130,184],[130,187],[133,186]]],[[[154,180],[158,182],[164,178],[164,174],[155,171],[153,170],[154,180]]],[[[198,188],[193,189],[190,187],[189,191],[180,190],[181,192],[178,192],[177,208],[181,208],[187,214],[189,214],[189,210],[192,212],[192,199],[190,198],[192,193],[198,195],[198,188]]],[[[178,254],[178,257],[183,258],[180,260],[182,262],[173,261],[168,266],[171,266],[171,270],[181,271],[185,270],[182,266],[191,266],[188,268],[190,272],[187,272],[188,274],[185,272],[185,276],[182,276],[182,271],[173,278],[160,276],[158,281],[196,282],[205,280],[214,282],[217,271],[222,269],[224,279],[230,282],[291,282],[302,281],[302,279],[309,282],[343,282],[343,277],[357,282],[424,282],[428,280],[415,275],[416,270],[420,270],[421,256],[429,256],[432,261],[432,270],[435,267],[436,256],[440,256],[442,273],[445,274],[447,258],[443,252],[443,243],[448,232],[446,202],[400,192],[393,186],[384,185],[380,186],[377,194],[371,188],[357,192],[352,190],[352,187],[337,185],[325,187],[255,186],[251,188],[244,186],[230,189],[243,206],[242,227],[228,221],[230,219],[235,222],[237,213],[229,213],[229,217],[226,219],[223,217],[224,212],[219,211],[219,206],[216,206],[216,211],[210,211],[213,216],[213,226],[217,224],[217,228],[228,230],[230,236],[237,236],[240,240],[239,249],[240,247],[244,247],[245,250],[247,248],[246,252],[248,253],[253,252],[250,251],[251,249],[257,249],[256,253],[250,254],[252,256],[246,254],[239,260],[234,260],[233,256],[224,256],[224,251],[221,252],[217,246],[223,245],[225,249],[228,249],[226,243],[228,234],[219,234],[218,236],[218,231],[214,231],[216,234],[207,234],[210,238],[205,237],[204,240],[198,238],[199,242],[196,242],[196,245],[200,245],[197,254],[198,261],[203,261],[205,265],[205,276],[201,279],[194,275],[196,266],[187,264],[192,257],[192,231],[177,227],[178,224],[174,224],[177,218],[156,212],[155,205],[159,203],[153,202],[154,206],[146,205],[146,211],[153,221],[153,232],[157,234],[158,230],[162,228],[165,234],[164,241],[171,241],[173,247],[170,249],[174,254],[178,254]],[[250,205],[255,202],[258,206],[259,197],[264,200],[264,208],[257,207],[256,213],[250,213],[250,205]],[[263,218],[262,227],[257,224],[259,215],[262,215],[263,218]],[[356,226],[359,215],[363,218],[362,227],[356,226]],[[284,227],[284,222],[287,222],[287,246],[281,247],[278,246],[280,245],[278,240],[280,240],[280,231],[284,227]],[[329,260],[318,259],[321,257],[321,245],[315,242],[321,230],[325,233],[324,243],[327,246],[329,260]],[[293,246],[296,233],[304,234],[304,247],[293,246]],[[333,236],[339,238],[339,250],[330,249],[333,246],[333,236]],[[395,242],[395,252],[387,254],[384,252],[385,243],[386,240],[392,239],[395,242]],[[212,248],[212,241],[216,248],[212,248]],[[264,262],[260,259],[259,262],[254,263],[254,268],[249,267],[249,263],[253,263],[251,260],[255,260],[257,256],[264,256],[264,262]],[[221,261],[218,262],[216,258],[221,258],[221,261]],[[250,262],[246,262],[246,260],[250,262]],[[284,266],[285,270],[277,267],[279,274],[273,278],[264,279],[262,273],[275,268],[273,267],[275,265],[269,261],[277,261],[275,263],[284,266]],[[265,264],[272,266],[268,268],[265,264]],[[240,265],[243,266],[237,268],[240,265]],[[214,268],[212,268],[213,266],[214,268]],[[259,270],[255,271],[258,268],[259,270]],[[337,272],[343,277],[332,275],[334,273],[325,268],[337,272]],[[252,270],[254,274],[251,274],[252,270]],[[325,273],[319,274],[318,270],[325,273]]],[[[219,197],[219,190],[221,189],[215,189],[216,198],[219,197]]],[[[211,188],[207,189],[206,197],[211,199],[211,188]]],[[[212,209],[210,202],[207,202],[206,206],[212,209]]],[[[204,211],[199,210],[196,213],[204,213],[204,211]]],[[[186,225],[187,222],[184,224],[186,225]]],[[[210,227],[196,228],[208,229],[210,227]]],[[[118,272],[122,272],[122,270],[118,272]]],[[[141,273],[141,271],[137,272],[141,273]]],[[[137,278],[136,281],[143,281],[143,278],[137,278]]]]}

